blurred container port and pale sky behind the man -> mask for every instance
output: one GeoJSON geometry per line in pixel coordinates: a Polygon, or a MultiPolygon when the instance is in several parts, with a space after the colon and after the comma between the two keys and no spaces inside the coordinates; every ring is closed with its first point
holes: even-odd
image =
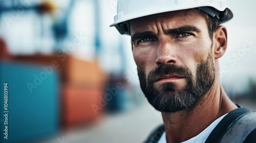
{"type": "MultiPolygon", "coordinates": [[[[220,76],[256,110],[255,1],[229,1],[220,76]]],[[[130,36],[109,25],[117,0],[0,0],[0,142],[142,142],[162,124],[139,87],[130,36]]]]}

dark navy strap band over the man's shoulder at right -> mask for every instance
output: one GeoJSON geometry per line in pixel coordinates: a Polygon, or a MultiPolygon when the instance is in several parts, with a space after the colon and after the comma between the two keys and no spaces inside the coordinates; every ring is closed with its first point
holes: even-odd
{"type": "Polygon", "coordinates": [[[206,143],[210,142],[220,142],[224,134],[236,123],[241,117],[246,114],[251,113],[252,111],[246,108],[237,108],[229,112],[221,122],[215,127],[214,130],[210,133],[206,139],[206,143]]]}

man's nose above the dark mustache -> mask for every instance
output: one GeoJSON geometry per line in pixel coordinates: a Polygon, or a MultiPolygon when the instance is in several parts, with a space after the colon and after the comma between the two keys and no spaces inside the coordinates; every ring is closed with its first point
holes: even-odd
{"type": "Polygon", "coordinates": [[[177,58],[175,56],[175,48],[171,43],[159,44],[157,48],[157,60],[156,64],[166,65],[166,64],[175,64],[177,58]]]}

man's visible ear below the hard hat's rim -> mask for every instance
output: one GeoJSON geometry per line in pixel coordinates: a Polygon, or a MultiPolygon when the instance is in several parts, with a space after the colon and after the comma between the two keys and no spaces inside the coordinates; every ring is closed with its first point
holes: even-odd
{"type": "Polygon", "coordinates": [[[223,56],[227,49],[227,29],[224,26],[219,26],[214,32],[214,44],[212,47],[214,58],[218,59],[223,56]]]}

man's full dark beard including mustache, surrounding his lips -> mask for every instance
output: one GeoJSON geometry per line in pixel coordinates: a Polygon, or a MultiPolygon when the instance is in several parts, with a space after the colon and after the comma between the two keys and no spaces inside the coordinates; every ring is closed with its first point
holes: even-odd
{"type": "Polygon", "coordinates": [[[198,64],[196,78],[188,68],[174,64],[160,65],[151,71],[146,78],[145,71],[138,69],[140,87],[147,101],[160,112],[177,112],[189,109],[198,103],[203,95],[211,88],[215,80],[215,68],[212,55],[198,64]],[[157,77],[177,74],[186,79],[183,89],[177,89],[175,83],[164,83],[159,89],[154,87],[157,77]]]}

